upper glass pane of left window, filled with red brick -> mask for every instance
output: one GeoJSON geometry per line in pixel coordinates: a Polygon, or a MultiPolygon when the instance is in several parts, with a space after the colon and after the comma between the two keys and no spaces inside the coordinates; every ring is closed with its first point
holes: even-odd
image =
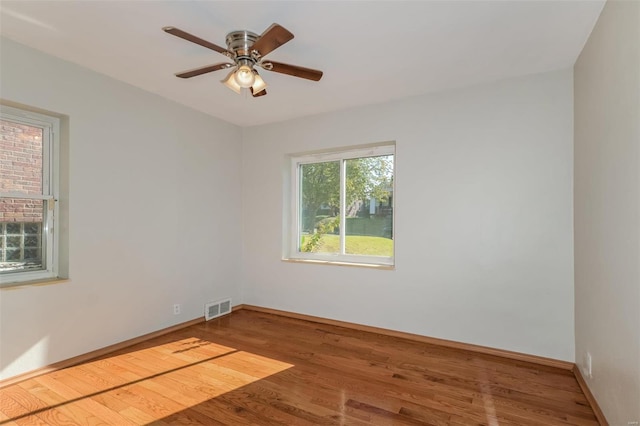
{"type": "Polygon", "coordinates": [[[0,120],[0,129],[0,192],[42,194],[42,128],[0,120]]]}

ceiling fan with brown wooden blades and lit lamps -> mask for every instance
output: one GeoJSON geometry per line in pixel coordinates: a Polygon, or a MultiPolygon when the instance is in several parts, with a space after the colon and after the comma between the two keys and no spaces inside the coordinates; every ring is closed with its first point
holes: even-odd
{"type": "Polygon", "coordinates": [[[213,71],[233,68],[221,82],[236,93],[241,93],[243,88],[249,89],[253,97],[267,94],[267,84],[258,74],[256,67],[294,77],[306,78],[307,80],[318,81],[322,78],[322,71],[319,70],[264,59],[267,54],[293,39],[293,34],[278,24],[272,24],[261,35],[244,30],[232,31],[227,34],[226,49],[175,27],[164,27],[163,30],[176,37],[215,50],[233,61],[179,72],[176,77],[191,78],[213,71]]]}

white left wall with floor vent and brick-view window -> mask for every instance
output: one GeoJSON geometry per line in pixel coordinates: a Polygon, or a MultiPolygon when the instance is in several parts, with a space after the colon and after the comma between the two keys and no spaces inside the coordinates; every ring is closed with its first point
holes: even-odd
{"type": "Polygon", "coordinates": [[[0,97],[70,117],[71,280],[0,290],[0,379],[239,302],[240,129],[1,42],[0,97]]]}

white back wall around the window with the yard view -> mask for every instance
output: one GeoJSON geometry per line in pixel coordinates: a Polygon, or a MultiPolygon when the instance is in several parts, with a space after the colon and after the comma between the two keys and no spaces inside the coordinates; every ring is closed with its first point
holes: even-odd
{"type": "Polygon", "coordinates": [[[573,361],[572,72],[243,130],[243,301],[573,361]],[[396,269],[282,258],[286,155],[397,141],[396,269]]]}

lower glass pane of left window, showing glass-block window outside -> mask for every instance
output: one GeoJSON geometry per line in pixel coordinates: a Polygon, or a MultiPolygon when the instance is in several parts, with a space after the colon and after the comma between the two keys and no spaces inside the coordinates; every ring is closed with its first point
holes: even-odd
{"type": "Polygon", "coordinates": [[[0,199],[0,273],[44,268],[45,207],[42,200],[0,199]]]}

